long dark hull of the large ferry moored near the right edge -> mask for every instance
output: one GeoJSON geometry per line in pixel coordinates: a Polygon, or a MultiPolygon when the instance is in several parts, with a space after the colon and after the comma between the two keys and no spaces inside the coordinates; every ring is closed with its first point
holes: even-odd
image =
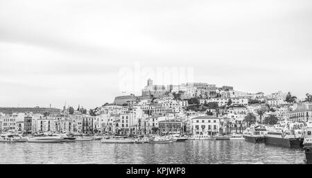
{"type": "Polygon", "coordinates": [[[284,139],[266,136],[266,144],[288,148],[300,148],[301,139],[284,139]]]}

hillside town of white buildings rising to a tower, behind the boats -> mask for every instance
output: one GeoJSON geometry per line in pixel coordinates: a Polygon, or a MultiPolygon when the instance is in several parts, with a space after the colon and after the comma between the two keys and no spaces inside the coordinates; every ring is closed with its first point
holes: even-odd
{"type": "Polygon", "coordinates": [[[241,134],[252,123],[274,125],[283,118],[305,123],[312,117],[312,97],[291,92],[250,94],[234,87],[186,83],[157,85],[148,79],[141,96],[117,96],[113,103],[84,109],[0,108],[0,131],[88,135],[241,134]]]}

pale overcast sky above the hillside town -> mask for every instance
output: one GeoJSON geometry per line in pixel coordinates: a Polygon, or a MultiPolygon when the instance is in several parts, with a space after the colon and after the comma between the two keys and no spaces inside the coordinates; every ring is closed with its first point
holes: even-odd
{"type": "Polygon", "coordinates": [[[148,78],[303,98],[311,32],[311,0],[0,0],[0,107],[94,108],[148,78]]]}

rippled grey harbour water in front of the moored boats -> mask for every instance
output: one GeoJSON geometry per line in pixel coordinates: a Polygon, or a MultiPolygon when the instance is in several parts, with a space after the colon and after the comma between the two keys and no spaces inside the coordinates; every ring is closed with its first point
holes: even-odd
{"type": "Polygon", "coordinates": [[[0,143],[0,163],[306,163],[304,150],[245,141],[0,143]]]}

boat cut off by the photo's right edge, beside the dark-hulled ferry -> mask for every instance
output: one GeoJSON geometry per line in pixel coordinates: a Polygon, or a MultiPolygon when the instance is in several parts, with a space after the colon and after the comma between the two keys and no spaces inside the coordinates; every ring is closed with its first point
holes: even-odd
{"type": "Polygon", "coordinates": [[[304,130],[304,142],[303,148],[304,153],[306,154],[306,161],[312,162],[312,121],[308,121],[306,123],[306,129],[304,130]]]}

